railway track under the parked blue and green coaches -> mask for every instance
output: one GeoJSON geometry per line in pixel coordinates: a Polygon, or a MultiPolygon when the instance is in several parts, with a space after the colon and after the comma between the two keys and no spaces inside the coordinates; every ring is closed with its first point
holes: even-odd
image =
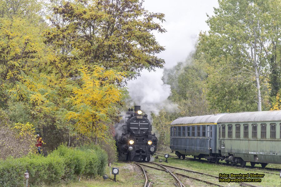
{"type": "MultiPolygon", "coordinates": [[[[165,155],[164,153],[158,153],[156,152],[156,155],[158,156],[163,156],[165,155]]],[[[178,158],[178,156],[174,156],[174,155],[169,155],[169,157],[172,157],[172,158],[178,158]]],[[[185,159],[187,160],[196,160],[196,161],[199,161],[199,162],[203,162],[203,163],[207,163],[207,164],[212,164],[212,163],[209,163],[209,161],[207,160],[199,160],[199,159],[194,159],[194,158],[187,158],[185,157],[185,159]]],[[[252,167],[252,166],[246,166],[245,168],[241,168],[241,167],[236,167],[236,166],[231,166],[227,163],[219,163],[220,165],[226,165],[226,166],[229,166],[229,167],[233,167],[233,168],[237,168],[237,169],[243,169],[243,170],[250,170],[250,171],[262,171],[264,173],[269,173],[269,174],[274,174],[274,175],[280,175],[279,173],[273,173],[273,172],[269,172],[269,171],[264,171],[264,170],[270,170],[270,171],[281,171],[281,169],[276,169],[276,168],[261,168],[261,167],[252,167]],[[254,169],[249,169],[249,168],[256,168],[258,170],[254,170],[254,169]]]]}

